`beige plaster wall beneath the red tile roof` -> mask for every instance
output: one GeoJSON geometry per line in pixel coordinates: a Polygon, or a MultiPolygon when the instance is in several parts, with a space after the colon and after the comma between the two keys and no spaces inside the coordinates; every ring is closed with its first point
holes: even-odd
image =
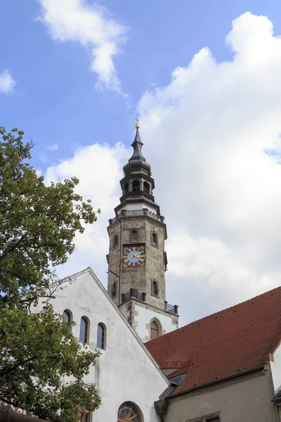
{"type": "Polygon", "coordinates": [[[220,412],[221,422],[276,422],[270,371],[169,400],[165,422],[186,422],[220,412]]]}

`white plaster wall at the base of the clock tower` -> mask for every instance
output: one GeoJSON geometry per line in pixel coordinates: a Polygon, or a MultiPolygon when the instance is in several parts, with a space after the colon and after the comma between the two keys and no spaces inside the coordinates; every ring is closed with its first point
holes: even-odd
{"type": "Polygon", "coordinates": [[[135,305],[135,311],[138,312],[138,315],[135,316],[135,321],[137,323],[136,333],[143,342],[150,339],[150,332],[149,329],[146,328],[146,324],[150,324],[150,321],[154,318],[160,321],[162,330],[164,330],[165,333],[169,333],[170,331],[174,331],[176,329],[176,326],[172,324],[169,314],[158,314],[157,312],[153,312],[152,310],[143,308],[137,304],[135,305]]]}

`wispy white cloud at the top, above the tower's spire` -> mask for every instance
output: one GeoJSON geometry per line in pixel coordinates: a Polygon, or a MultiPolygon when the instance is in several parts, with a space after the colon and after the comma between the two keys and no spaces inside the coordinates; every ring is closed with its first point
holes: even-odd
{"type": "Polygon", "coordinates": [[[110,18],[107,9],[84,0],[39,0],[41,20],[54,40],[79,41],[91,47],[91,70],[98,73],[97,87],[121,93],[113,63],[125,41],[126,27],[110,18]]]}

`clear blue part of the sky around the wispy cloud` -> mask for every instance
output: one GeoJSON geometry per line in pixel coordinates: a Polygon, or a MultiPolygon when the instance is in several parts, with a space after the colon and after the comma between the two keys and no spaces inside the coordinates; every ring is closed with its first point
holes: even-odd
{"type": "Polygon", "coordinates": [[[275,32],[281,33],[277,0],[107,0],[98,4],[128,28],[123,51],[114,58],[126,99],[111,89],[95,89],[91,48],[77,41],[54,42],[46,26],[35,20],[41,13],[39,1],[1,1],[0,70],[10,70],[16,81],[13,95],[0,97],[1,124],[24,129],[37,143],[33,160],[42,170],[69,157],[78,144],[130,143],[143,91],[169,83],[171,71],[188,65],[204,46],[209,46],[216,60],[228,60],[233,53],[224,37],[231,21],[245,11],[267,15],[275,32]],[[46,147],[54,143],[58,151],[48,151],[46,147]]]}

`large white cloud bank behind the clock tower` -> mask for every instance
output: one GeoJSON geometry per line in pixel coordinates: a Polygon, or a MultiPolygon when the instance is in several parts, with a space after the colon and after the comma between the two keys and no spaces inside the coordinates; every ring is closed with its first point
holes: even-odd
{"type": "MultiPolygon", "coordinates": [[[[245,13],[226,41],[233,60],[216,63],[204,48],[138,107],[169,235],[166,298],[180,306],[181,325],[281,279],[281,39],[268,18],[245,13]]],[[[95,261],[105,282],[106,220],[129,156],[96,144],[48,170],[81,176],[81,193],[103,210],[78,239],[69,273],[95,261]]]]}

